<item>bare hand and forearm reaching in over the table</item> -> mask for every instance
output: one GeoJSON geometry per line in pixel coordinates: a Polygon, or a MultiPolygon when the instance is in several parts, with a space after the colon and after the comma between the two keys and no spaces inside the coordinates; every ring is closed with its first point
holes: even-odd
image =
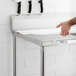
{"type": "Polygon", "coordinates": [[[74,17],[71,20],[68,20],[68,21],[65,21],[65,22],[61,22],[56,27],[59,28],[61,26],[61,35],[62,36],[67,36],[67,35],[69,35],[71,27],[73,25],[75,25],[75,24],[76,24],[76,17],[74,17]]]}

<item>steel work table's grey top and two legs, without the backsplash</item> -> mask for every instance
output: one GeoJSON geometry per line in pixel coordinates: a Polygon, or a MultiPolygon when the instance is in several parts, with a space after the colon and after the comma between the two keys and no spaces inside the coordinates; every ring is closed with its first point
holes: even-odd
{"type": "Polygon", "coordinates": [[[44,76],[44,47],[59,45],[62,43],[71,43],[76,40],[75,34],[70,34],[69,36],[63,37],[59,34],[23,34],[19,31],[13,31],[13,42],[14,42],[14,51],[13,51],[13,76],[16,76],[16,38],[22,38],[32,43],[37,44],[41,47],[41,76],[44,76]]]}

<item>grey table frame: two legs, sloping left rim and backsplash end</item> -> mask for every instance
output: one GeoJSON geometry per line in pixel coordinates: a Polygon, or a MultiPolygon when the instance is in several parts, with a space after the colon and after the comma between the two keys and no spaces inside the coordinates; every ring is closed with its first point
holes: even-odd
{"type": "MultiPolygon", "coordinates": [[[[12,31],[12,16],[10,17],[10,30],[12,31]]],[[[25,40],[28,40],[30,42],[33,42],[37,45],[39,45],[41,47],[41,50],[40,50],[40,76],[44,76],[45,75],[45,56],[44,56],[44,47],[43,46],[43,43],[41,41],[37,41],[37,40],[34,40],[34,39],[31,39],[31,38],[28,38],[28,37],[25,37],[23,35],[20,35],[20,34],[17,34],[17,32],[15,31],[12,31],[13,33],[13,76],[17,76],[17,71],[16,71],[16,38],[17,37],[20,37],[20,38],[23,38],[25,40]]],[[[75,34],[76,35],[76,34],[75,34]]],[[[71,43],[71,42],[70,42],[71,43]]],[[[51,44],[50,44],[51,45],[51,44]]]]}

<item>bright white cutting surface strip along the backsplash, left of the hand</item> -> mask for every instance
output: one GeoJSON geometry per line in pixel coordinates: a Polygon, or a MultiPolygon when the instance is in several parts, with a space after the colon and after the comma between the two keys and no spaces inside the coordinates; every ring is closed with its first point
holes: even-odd
{"type": "Polygon", "coordinates": [[[18,30],[21,34],[34,34],[34,35],[48,35],[48,34],[60,34],[60,28],[57,29],[32,29],[32,30],[18,30]]]}

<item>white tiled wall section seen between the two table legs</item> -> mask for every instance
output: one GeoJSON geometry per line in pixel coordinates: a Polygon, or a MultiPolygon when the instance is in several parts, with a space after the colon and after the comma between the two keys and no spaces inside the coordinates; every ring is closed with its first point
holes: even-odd
{"type": "Polygon", "coordinates": [[[40,47],[17,38],[17,75],[39,76],[40,47]]]}

